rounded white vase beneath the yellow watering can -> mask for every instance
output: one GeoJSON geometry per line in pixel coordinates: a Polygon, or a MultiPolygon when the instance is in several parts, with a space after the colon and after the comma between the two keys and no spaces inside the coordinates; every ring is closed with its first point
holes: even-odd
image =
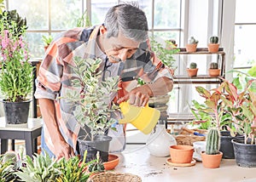
{"type": "Polygon", "coordinates": [[[171,145],[177,145],[176,139],[172,134],[166,132],[163,124],[157,124],[148,137],[147,148],[153,156],[169,156],[169,148],[171,145]]]}

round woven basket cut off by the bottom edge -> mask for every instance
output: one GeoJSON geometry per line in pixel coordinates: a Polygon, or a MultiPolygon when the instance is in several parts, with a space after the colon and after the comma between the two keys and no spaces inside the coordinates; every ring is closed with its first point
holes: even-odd
{"type": "Polygon", "coordinates": [[[131,173],[96,173],[87,182],[141,182],[142,179],[131,173]]]}

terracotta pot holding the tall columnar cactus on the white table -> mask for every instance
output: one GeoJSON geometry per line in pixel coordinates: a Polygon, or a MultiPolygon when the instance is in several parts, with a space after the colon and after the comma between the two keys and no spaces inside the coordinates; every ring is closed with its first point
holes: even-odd
{"type": "Polygon", "coordinates": [[[223,153],[219,151],[215,155],[207,155],[205,151],[201,152],[201,161],[205,168],[219,168],[223,153]]]}

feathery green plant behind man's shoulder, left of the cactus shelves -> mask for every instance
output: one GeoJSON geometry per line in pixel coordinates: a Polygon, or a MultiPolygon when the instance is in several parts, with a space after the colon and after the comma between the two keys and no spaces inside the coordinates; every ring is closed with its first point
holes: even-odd
{"type": "MultiPolygon", "coordinates": [[[[171,42],[166,41],[166,45],[171,47],[171,42]]],[[[154,40],[154,37],[151,37],[150,40],[151,49],[154,51],[154,54],[169,68],[174,68],[174,63],[176,60],[173,57],[173,54],[178,53],[180,50],[178,48],[167,49],[162,46],[161,43],[158,43],[154,40]]]]}

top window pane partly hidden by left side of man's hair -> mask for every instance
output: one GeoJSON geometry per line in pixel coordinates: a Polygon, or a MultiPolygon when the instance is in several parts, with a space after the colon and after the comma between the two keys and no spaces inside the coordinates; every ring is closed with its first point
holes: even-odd
{"type": "Polygon", "coordinates": [[[91,0],[91,23],[102,24],[108,9],[117,4],[117,0],[91,0]]]}

